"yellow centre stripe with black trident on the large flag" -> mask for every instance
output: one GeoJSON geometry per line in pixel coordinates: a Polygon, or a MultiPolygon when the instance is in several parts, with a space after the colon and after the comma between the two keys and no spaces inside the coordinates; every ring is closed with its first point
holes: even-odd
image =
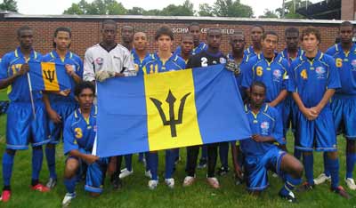
{"type": "Polygon", "coordinates": [[[150,151],[202,144],[191,69],[144,76],[150,151]]]}

